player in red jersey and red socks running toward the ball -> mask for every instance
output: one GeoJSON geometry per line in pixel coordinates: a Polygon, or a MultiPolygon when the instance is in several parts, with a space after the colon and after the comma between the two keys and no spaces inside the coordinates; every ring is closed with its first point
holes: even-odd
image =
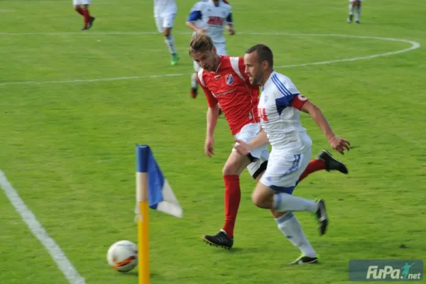
{"type": "MultiPolygon", "coordinates": [[[[244,58],[217,55],[212,38],[205,34],[192,36],[189,53],[201,67],[198,71],[198,82],[204,90],[209,106],[204,152],[209,157],[214,155],[213,135],[219,116],[219,104],[234,138],[249,143],[260,131],[259,87],[250,84],[249,77],[244,72],[244,58]]],[[[240,155],[235,148],[232,149],[222,170],[225,185],[224,226],[216,235],[202,236],[202,240],[207,244],[224,249],[231,249],[234,245],[234,226],[241,200],[239,175],[247,168],[253,179],[258,181],[266,170],[268,158],[266,145],[253,149],[249,155],[240,155]]],[[[317,170],[339,170],[341,173],[348,173],[343,163],[332,158],[327,151],[322,151],[316,159],[310,161],[299,181],[317,170]]],[[[283,215],[278,211],[272,211],[272,214],[275,219],[283,215]]]]}

